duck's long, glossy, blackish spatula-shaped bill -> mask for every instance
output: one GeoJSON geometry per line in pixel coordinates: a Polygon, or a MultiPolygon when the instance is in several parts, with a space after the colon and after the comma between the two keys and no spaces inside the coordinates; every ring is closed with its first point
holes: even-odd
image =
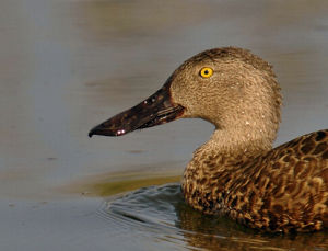
{"type": "Polygon", "coordinates": [[[175,104],[169,94],[169,85],[165,84],[156,93],[116,116],[103,122],[89,133],[103,136],[121,136],[136,129],[143,129],[183,116],[184,107],[175,104]]]}

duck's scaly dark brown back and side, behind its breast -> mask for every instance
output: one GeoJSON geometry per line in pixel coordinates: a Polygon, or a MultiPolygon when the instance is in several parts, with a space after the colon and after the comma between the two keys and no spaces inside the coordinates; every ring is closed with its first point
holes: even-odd
{"type": "Polygon", "coordinates": [[[239,170],[244,182],[224,198],[231,217],[271,231],[328,228],[328,130],[291,140],[239,170]]]}

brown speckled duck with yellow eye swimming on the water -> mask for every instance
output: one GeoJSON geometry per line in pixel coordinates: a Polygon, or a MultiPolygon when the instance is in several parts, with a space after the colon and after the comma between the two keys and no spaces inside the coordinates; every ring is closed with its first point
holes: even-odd
{"type": "Polygon", "coordinates": [[[212,48],[184,61],[154,94],[92,128],[122,136],[177,118],[214,125],[187,164],[185,202],[268,232],[328,228],[328,129],[276,148],[281,88],[248,49],[212,48]]]}

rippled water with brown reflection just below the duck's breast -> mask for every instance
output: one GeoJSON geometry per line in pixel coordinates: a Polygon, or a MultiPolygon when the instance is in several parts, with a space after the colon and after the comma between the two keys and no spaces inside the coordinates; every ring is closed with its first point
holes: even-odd
{"type": "MultiPolygon", "coordinates": [[[[97,215],[125,236],[141,236],[186,250],[327,250],[328,232],[277,236],[190,208],[177,183],[109,197],[97,215]]],[[[129,239],[129,238],[128,238],[129,239]]]]}

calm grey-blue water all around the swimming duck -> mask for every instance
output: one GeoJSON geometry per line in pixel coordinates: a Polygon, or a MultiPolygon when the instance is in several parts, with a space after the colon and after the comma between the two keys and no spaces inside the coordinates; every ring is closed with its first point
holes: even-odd
{"type": "Polygon", "coordinates": [[[274,66],[274,145],[327,128],[327,11],[324,0],[2,0],[0,249],[327,249],[327,232],[261,235],[183,203],[171,183],[210,137],[204,122],[87,138],[186,58],[226,45],[274,66]]]}

